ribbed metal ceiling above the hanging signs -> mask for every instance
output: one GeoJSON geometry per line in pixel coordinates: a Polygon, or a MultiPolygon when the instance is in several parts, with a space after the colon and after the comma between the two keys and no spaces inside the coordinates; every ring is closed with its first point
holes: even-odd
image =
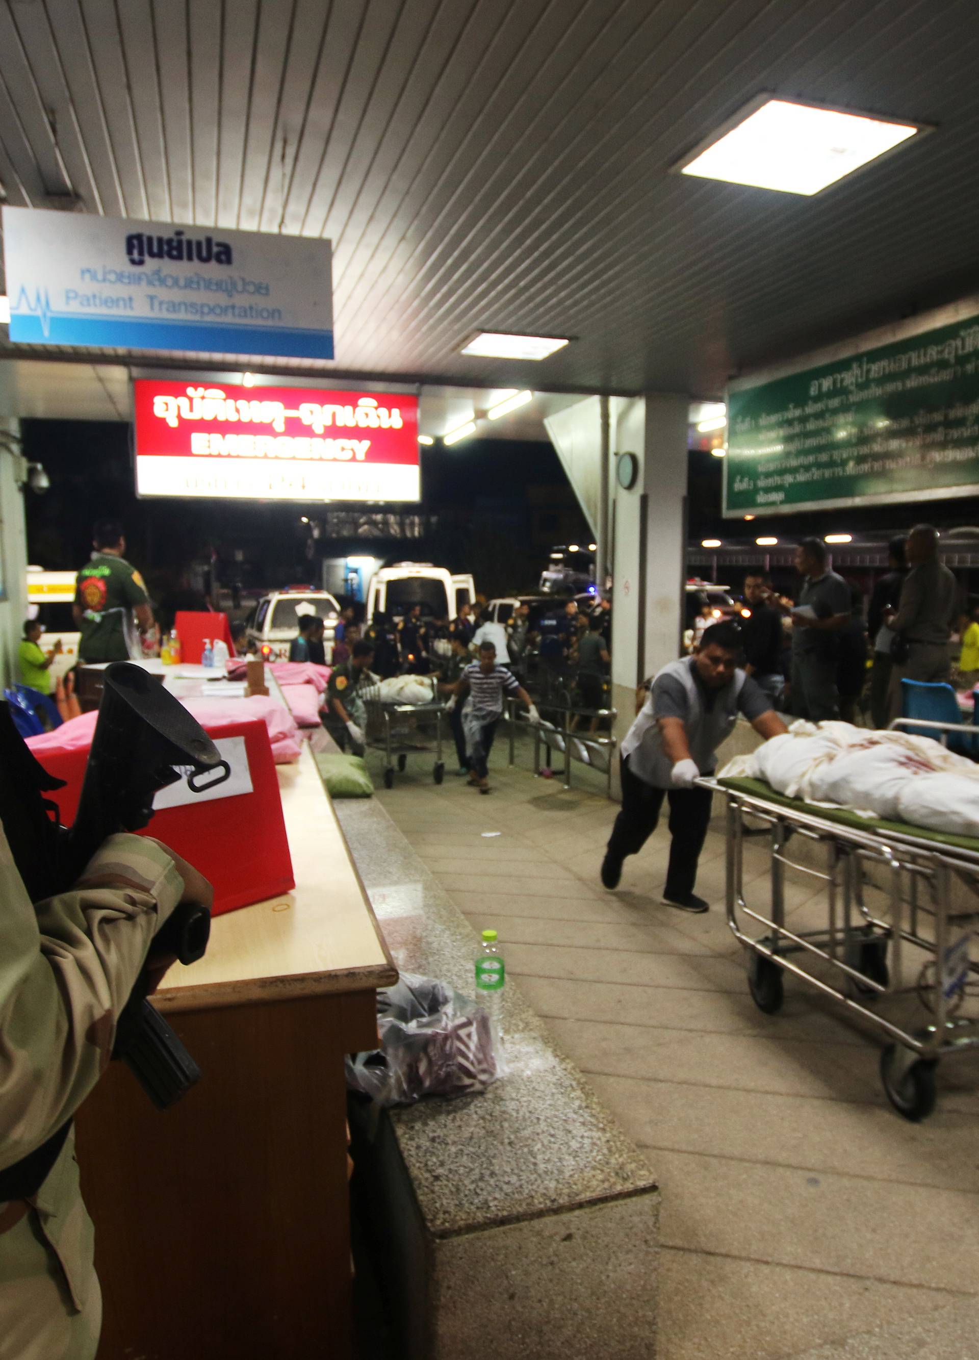
{"type": "Polygon", "coordinates": [[[0,184],[329,237],[328,370],[708,396],[975,288],[975,0],[0,0],[0,184]],[[761,90],[938,131],[814,199],[668,174],[761,90]],[[577,340],[460,355],[483,328],[577,340]]]}

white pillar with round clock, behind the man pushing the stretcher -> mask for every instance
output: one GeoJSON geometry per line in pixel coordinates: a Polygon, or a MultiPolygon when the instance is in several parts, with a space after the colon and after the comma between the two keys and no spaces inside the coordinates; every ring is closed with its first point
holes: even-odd
{"type": "Polygon", "coordinates": [[[635,717],[636,685],[680,656],[689,398],[649,394],[613,407],[613,461],[624,453],[639,461],[631,490],[617,477],[612,487],[612,702],[621,738],[635,717]]]}

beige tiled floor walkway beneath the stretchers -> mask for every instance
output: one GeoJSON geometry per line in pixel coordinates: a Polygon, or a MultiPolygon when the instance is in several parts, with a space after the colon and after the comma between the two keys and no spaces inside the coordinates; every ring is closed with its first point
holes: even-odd
{"type": "MultiPolygon", "coordinates": [[[[510,975],[659,1176],[661,1360],[780,1360],[979,1295],[979,1061],[940,1069],[929,1121],[897,1118],[877,1043],[832,1004],[789,983],[779,1016],[756,1009],[718,830],[710,915],[659,904],[662,834],[609,894],[617,809],[600,785],[563,792],[503,759],[490,797],[411,768],[379,797],[473,928],[499,930],[510,975]]],[[[767,850],[746,858],[760,880],[767,850]]],[[[800,919],[809,892],[793,885],[800,919]]],[[[979,1337],[955,1353],[979,1356],[979,1337]]]]}

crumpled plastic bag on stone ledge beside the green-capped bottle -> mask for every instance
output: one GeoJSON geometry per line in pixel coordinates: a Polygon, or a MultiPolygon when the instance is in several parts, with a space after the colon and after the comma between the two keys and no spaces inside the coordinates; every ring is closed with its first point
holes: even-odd
{"type": "Polygon", "coordinates": [[[436,978],[402,972],[378,991],[381,1047],[347,1058],[347,1085],[382,1106],[468,1096],[499,1076],[490,1017],[436,978]]]}

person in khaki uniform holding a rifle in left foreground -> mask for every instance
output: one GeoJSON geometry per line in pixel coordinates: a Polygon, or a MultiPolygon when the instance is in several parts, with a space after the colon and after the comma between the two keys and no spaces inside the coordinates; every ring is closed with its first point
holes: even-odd
{"type": "Polygon", "coordinates": [[[178,903],[211,898],[158,840],[114,835],[71,892],[35,906],[0,827],[3,1360],[95,1355],[102,1296],[71,1119],[109,1061],[154,936],[178,903]]]}

